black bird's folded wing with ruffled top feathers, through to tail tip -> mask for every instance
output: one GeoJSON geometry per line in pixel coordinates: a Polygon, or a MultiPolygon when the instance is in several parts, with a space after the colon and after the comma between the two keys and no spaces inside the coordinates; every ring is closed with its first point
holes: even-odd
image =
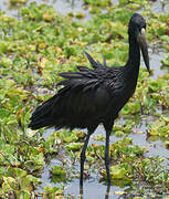
{"type": "Polygon", "coordinates": [[[60,73],[64,80],[57,85],[62,88],[35,109],[30,127],[87,127],[112,113],[108,106],[114,103],[116,70],[87,57],[94,69],[78,66],[78,72],[60,73]]]}

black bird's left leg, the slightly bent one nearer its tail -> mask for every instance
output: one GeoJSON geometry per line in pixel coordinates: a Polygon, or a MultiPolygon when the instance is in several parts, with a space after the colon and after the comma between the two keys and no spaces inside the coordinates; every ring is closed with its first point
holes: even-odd
{"type": "MultiPolygon", "coordinates": [[[[92,132],[92,133],[93,133],[93,132],[92,132]]],[[[83,170],[84,170],[84,161],[85,161],[85,159],[86,159],[85,153],[86,153],[86,148],[87,148],[88,140],[89,140],[89,137],[91,137],[92,133],[89,133],[89,132],[87,133],[87,136],[86,136],[85,143],[84,143],[83,149],[82,149],[82,151],[81,151],[80,189],[83,189],[83,170]]]]}

